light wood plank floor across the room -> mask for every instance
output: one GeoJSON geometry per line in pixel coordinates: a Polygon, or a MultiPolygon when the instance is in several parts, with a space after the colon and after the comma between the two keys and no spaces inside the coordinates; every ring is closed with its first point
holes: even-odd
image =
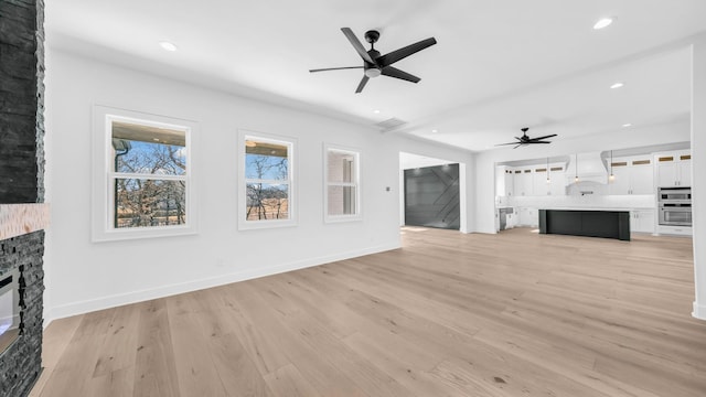
{"type": "Polygon", "coordinates": [[[54,321],[33,396],[706,396],[691,239],[403,233],[54,321]]]}

